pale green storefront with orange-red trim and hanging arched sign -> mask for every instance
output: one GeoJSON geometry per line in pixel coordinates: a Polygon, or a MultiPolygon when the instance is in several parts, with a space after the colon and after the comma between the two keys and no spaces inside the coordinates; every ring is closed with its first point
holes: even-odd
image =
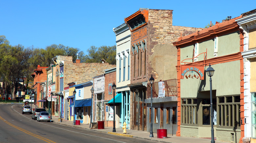
{"type": "Polygon", "coordinates": [[[239,142],[244,136],[243,34],[237,18],[178,38],[177,136],[211,137],[210,78],[213,129],[219,141],[239,142]],[[214,33],[214,34],[213,34],[214,33]],[[179,126],[180,125],[180,126],[179,126]]]}

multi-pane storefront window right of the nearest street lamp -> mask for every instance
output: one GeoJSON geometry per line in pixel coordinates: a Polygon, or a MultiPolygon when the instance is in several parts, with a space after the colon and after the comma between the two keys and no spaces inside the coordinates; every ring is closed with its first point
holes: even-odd
{"type": "Polygon", "coordinates": [[[240,127],[240,95],[218,97],[219,126],[240,127]]]}

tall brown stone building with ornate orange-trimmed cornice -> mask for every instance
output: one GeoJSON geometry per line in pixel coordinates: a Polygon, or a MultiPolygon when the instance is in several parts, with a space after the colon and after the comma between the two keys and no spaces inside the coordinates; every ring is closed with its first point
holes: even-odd
{"type": "MultiPolygon", "coordinates": [[[[151,110],[148,104],[150,91],[147,90],[148,87],[150,89],[149,78],[153,75],[156,82],[176,79],[177,50],[172,42],[177,41],[180,36],[194,33],[202,28],[173,26],[172,10],[140,8],[124,21],[131,31],[131,84],[128,85],[131,90],[130,128],[149,132],[151,110]]],[[[153,89],[155,89],[154,85],[153,89]]],[[[176,86],[176,82],[174,85],[176,86]]],[[[163,118],[166,117],[167,110],[173,113],[172,107],[177,107],[177,98],[173,98],[176,95],[166,92],[165,96],[168,98],[160,101],[157,95],[158,93],[153,95],[153,132],[165,128],[167,133],[171,134],[173,131],[169,126],[172,123],[166,123],[163,118]]]]}

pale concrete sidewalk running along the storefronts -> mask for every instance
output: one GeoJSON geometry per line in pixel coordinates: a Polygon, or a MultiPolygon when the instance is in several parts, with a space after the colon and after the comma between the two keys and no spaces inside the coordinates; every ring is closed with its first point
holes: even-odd
{"type": "MultiPolygon", "coordinates": [[[[52,116],[53,123],[58,124],[64,124],[71,127],[76,128],[83,128],[85,130],[95,131],[95,132],[101,132],[101,133],[107,133],[112,135],[121,135],[126,137],[132,137],[132,138],[139,138],[144,140],[150,140],[155,142],[161,142],[161,143],[210,143],[211,139],[206,138],[195,138],[195,137],[181,137],[176,135],[167,135],[167,138],[157,138],[157,133],[154,133],[154,137],[149,137],[150,133],[146,131],[137,131],[137,130],[126,130],[126,134],[123,134],[122,128],[116,127],[116,132],[113,133],[113,127],[105,127],[105,129],[90,129],[90,124],[80,124],[80,125],[73,125],[73,121],[68,121],[62,119],[62,122],[58,121],[58,117],[52,116]]],[[[215,143],[226,143],[221,141],[216,141],[215,143]]]]}

